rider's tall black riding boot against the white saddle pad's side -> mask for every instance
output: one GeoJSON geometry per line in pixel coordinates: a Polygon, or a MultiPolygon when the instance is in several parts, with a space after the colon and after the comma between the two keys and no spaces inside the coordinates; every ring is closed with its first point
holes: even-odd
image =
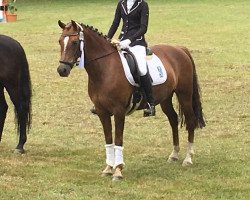
{"type": "Polygon", "coordinates": [[[149,74],[140,77],[141,86],[143,87],[148,102],[148,108],[144,110],[144,117],[155,116],[155,104],[152,93],[152,84],[149,74]]]}

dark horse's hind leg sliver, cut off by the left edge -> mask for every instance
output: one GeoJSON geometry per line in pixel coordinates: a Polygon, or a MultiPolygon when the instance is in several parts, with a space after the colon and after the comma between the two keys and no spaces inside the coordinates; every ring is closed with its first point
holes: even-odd
{"type": "Polygon", "coordinates": [[[0,86],[0,141],[2,139],[3,127],[7,110],[8,110],[8,105],[4,97],[4,88],[0,86]]]}

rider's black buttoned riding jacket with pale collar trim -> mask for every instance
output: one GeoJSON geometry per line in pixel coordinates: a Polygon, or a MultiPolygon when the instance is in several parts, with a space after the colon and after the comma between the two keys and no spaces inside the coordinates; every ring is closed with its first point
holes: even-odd
{"type": "Polygon", "coordinates": [[[120,40],[130,39],[130,46],[147,46],[144,34],[147,32],[149,9],[144,0],[135,1],[130,13],[127,11],[127,0],[120,0],[116,7],[114,21],[108,32],[108,37],[112,38],[117,31],[121,19],[123,20],[120,40]]]}

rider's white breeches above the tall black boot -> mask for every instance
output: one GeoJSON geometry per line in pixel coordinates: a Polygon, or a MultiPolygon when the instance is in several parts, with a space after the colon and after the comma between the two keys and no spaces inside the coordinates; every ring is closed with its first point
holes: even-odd
{"type": "Polygon", "coordinates": [[[129,50],[135,55],[138,63],[140,76],[144,76],[147,73],[147,62],[146,62],[146,48],[141,45],[130,47],[129,50]]]}

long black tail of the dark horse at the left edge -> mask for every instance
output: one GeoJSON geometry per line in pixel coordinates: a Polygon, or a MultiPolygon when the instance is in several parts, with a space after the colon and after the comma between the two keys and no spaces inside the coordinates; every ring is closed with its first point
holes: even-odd
{"type": "Polygon", "coordinates": [[[20,59],[20,76],[18,80],[18,103],[15,109],[15,116],[18,125],[18,132],[20,131],[21,124],[25,124],[28,130],[31,128],[31,108],[32,108],[32,89],[31,89],[31,80],[29,72],[29,64],[25,55],[23,48],[21,48],[22,57],[20,59]],[[18,109],[18,110],[17,110],[18,109]]]}

